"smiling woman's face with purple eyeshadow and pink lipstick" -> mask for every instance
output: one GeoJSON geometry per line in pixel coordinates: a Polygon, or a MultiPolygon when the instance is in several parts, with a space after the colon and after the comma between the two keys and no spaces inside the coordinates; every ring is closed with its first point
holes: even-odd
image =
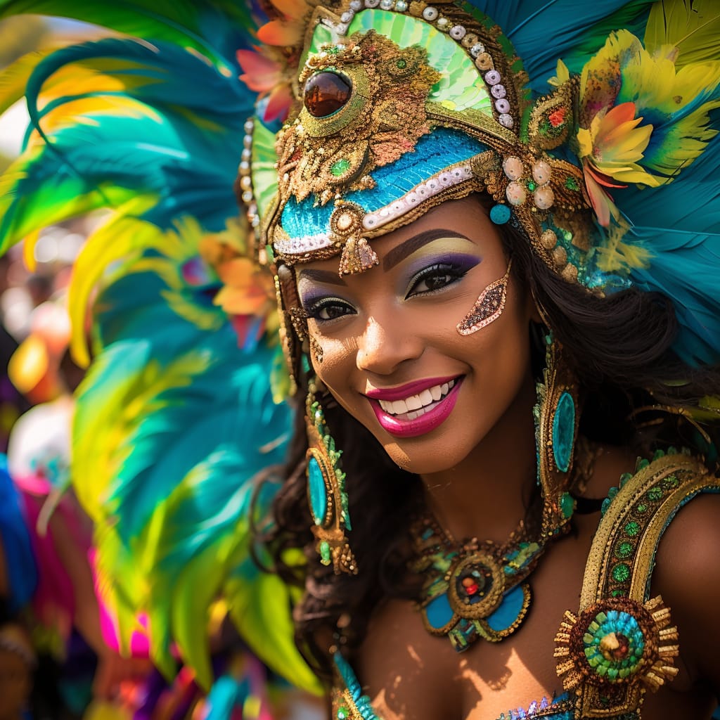
{"type": "Polygon", "coordinates": [[[379,265],[357,275],[340,278],[338,258],[297,266],[312,364],[400,467],[454,467],[530,379],[531,302],[510,276],[500,317],[459,334],[482,290],[508,269],[477,199],[446,202],[372,248],[379,265]]]}

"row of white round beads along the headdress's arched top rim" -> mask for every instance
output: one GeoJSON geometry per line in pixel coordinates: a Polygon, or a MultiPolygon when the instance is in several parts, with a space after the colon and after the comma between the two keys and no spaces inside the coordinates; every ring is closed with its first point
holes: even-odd
{"type": "MultiPolygon", "coordinates": [[[[328,25],[340,35],[346,35],[348,27],[355,17],[356,12],[362,9],[375,9],[379,7],[382,10],[392,12],[408,12],[410,4],[405,0],[351,0],[348,9],[341,14],[340,22],[333,24],[329,19],[323,19],[323,24],[328,25]]],[[[480,70],[482,79],[490,89],[490,95],[494,99],[495,111],[498,113],[498,122],[503,127],[510,129],[515,124],[513,116],[510,114],[510,103],[506,99],[508,91],[502,82],[500,73],[494,69],[494,63],[490,54],[486,52],[485,45],[479,42],[477,35],[467,32],[467,28],[463,25],[451,25],[450,20],[444,17],[440,11],[431,5],[423,9],[423,19],[433,24],[437,30],[446,33],[453,40],[459,42],[462,48],[469,53],[473,59],[475,67],[480,70]]]]}

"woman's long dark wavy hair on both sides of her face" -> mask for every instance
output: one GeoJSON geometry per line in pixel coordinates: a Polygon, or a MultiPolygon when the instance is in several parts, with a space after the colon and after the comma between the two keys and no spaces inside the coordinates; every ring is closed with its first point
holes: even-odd
{"type": "MultiPolygon", "coordinates": [[[[513,274],[542,308],[555,338],[564,347],[565,359],[577,374],[585,396],[580,432],[591,440],[630,446],[638,452],[649,451],[651,441],[655,446],[663,442],[696,444],[693,426],[682,422],[683,409],[696,406],[703,396],[720,394],[720,368],[691,368],[672,350],[678,323],[670,300],[638,289],[607,297],[590,294],[546,266],[512,225],[502,226],[500,233],[506,253],[513,256],[513,274]],[[670,422],[658,425],[653,413],[647,418],[642,412],[642,408],[658,405],[678,412],[665,415],[670,422]],[[646,428],[654,428],[652,438],[646,428]]],[[[541,333],[536,328],[535,334],[541,333]]],[[[297,397],[302,399],[307,378],[300,378],[299,384],[297,397]]],[[[353,520],[350,540],[359,575],[335,575],[332,567],[320,564],[315,550],[306,498],[307,441],[302,402],[297,410],[287,480],[274,500],[273,529],[261,539],[274,557],[274,571],[305,589],[294,608],[296,641],[318,675],[329,680],[328,647],[335,644],[353,652],[364,639],[379,600],[412,597],[417,592],[404,568],[408,525],[413,503],[420,495],[420,482],[417,476],[395,466],[372,434],[339,408],[330,395],[320,401],[328,428],[343,449],[353,520]],[[295,563],[284,562],[285,551],[297,547],[304,548],[307,557],[302,570],[295,563]]]]}

